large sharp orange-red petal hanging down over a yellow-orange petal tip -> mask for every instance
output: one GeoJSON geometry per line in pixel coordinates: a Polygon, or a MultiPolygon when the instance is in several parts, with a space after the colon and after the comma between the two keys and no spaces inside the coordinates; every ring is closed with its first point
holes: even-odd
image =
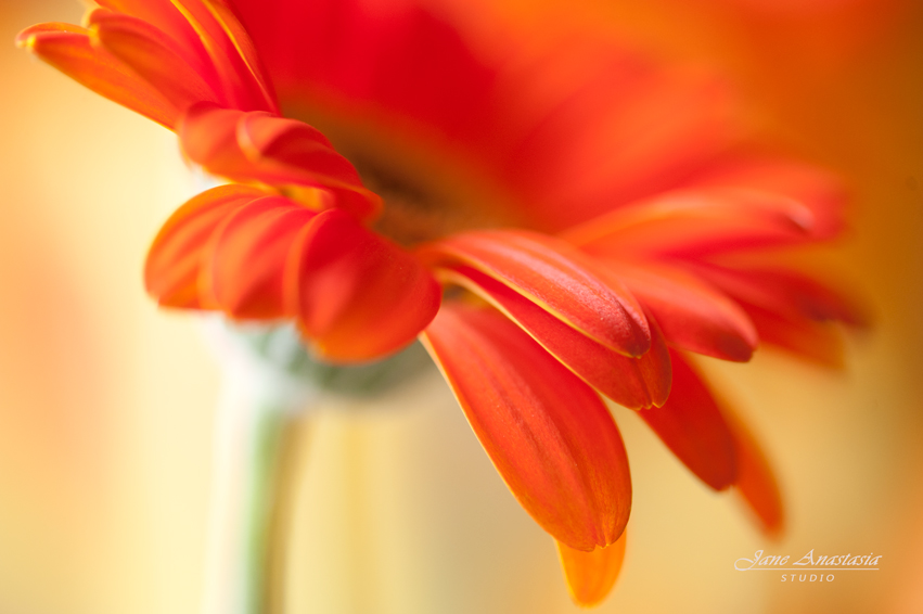
{"type": "Polygon", "coordinates": [[[490,308],[446,303],[421,335],[490,460],[555,539],[615,542],[631,508],[628,458],[602,400],[490,308]]]}

